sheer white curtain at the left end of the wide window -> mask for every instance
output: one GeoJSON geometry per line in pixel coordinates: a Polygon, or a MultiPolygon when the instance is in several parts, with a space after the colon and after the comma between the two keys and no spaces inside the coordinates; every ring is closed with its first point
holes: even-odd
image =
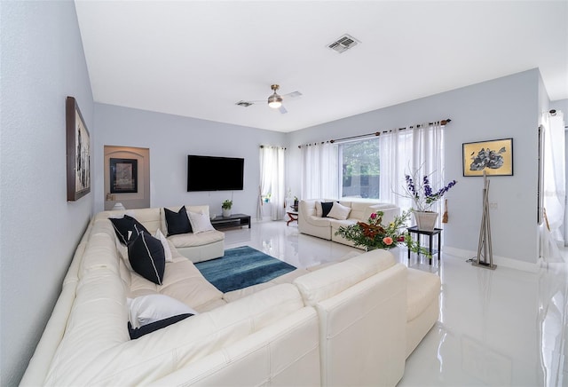
{"type": "Polygon", "coordinates": [[[337,145],[326,142],[301,147],[303,199],[335,199],[339,193],[337,145]]]}

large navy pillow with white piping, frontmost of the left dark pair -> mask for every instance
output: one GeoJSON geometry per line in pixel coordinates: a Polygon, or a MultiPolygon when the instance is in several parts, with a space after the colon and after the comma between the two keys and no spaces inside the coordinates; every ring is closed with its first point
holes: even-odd
{"type": "Polygon", "coordinates": [[[146,280],[162,285],[166,255],[162,241],[146,232],[132,236],[128,243],[128,260],[135,272],[146,280]]]}

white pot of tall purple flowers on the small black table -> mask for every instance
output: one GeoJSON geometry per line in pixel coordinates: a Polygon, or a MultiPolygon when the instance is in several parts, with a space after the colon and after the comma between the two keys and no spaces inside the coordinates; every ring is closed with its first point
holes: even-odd
{"type": "Polygon", "coordinates": [[[418,230],[434,231],[436,221],[438,220],[438,212],[431,211],[432,204],[442,199],[442,196],[449,191],[450,188],[457,183],[455,180],[450,181],[447,186],[443,186],[437,192],[432,190],[430,179],[424,175],[422,180],[418,179],[416,170],[413,176],[406,175],[405,196],[414,201],[413,214],[418,230]]]}

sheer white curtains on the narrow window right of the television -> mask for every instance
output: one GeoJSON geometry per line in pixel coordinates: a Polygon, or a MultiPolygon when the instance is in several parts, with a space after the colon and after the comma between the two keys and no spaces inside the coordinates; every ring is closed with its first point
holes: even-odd
{"type": "Polygon", "coordinates": [[[271,219],[284,217],[286,149],[279,146],[260,147],[260,186],[256,218],[263,217],[263,196],[271,194],[271,219]]]}

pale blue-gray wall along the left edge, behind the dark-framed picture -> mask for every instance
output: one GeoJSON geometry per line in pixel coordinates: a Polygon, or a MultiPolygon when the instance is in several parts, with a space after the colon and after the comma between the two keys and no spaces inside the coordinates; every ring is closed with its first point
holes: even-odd
{"type": "Polygon", "coordinates": [[[67,202],[65,100],[91,135],[92,93],[72,1],[0,2],[0,385],[20,382],[92,210],[67,202]]]}

